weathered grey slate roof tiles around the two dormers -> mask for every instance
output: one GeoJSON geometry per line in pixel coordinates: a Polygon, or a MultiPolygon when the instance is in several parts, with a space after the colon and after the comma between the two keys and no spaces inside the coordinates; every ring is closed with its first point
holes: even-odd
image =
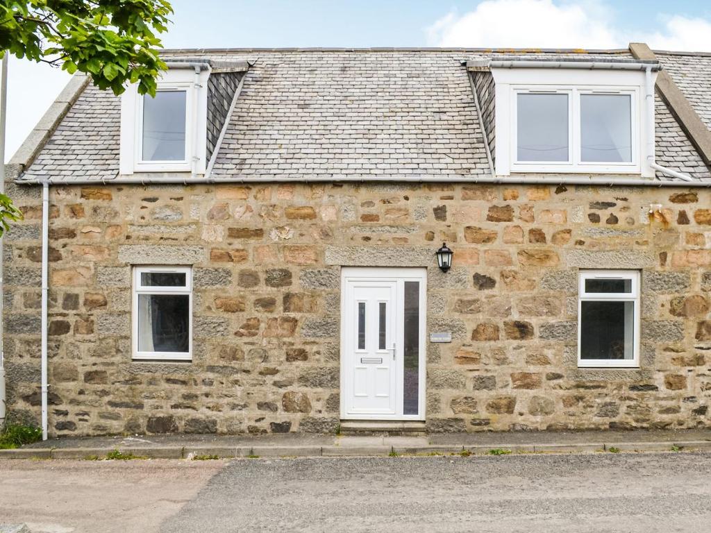
{"type": "MultiPolygon", "coordinates": [[[[491,169],[463,62],[502,53],[506,50],[173,50],[166,58],[247,60],[251,65],[218,149],[211,174],[215,181],[375,174],[475,178],[491,169]]],[[[629,50],[550,50],[526,56],[632,58],[629,50]]],[[[711,58],[665,58],[660,58],[663,66],[699,114],[706,113],[711,127],[711,58]],[[685,76],[691,81],[678,81],[685,76]]],[[[88,86],[21,178],[115,178],[119,114],[118,97],[88,86]]],[[[658,162],[695,178],[711,178],[661,99],[656,122],[658,162]]]]}

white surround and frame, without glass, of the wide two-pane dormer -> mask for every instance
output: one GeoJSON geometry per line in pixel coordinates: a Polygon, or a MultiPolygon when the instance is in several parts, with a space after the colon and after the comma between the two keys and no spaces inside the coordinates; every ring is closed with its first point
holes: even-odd
{"type": "MultiPolygon", "coordinates": [[[[550,68],[492,68],[491,71],[496,84],[496,174],[498,176],[509,176],[513,173],[654,176],[646,154],[648,118],[645,112],[643,71],[550,68]],[[557,157],[556,161],[527,161],[519,157],[520,95],[566,95],[567,159],[557,157]],[[583,160],[582,102],[587,95],[629,97],[629,157],[621,157],[623,161],[583,160]]],[[[561,109],[558,108],[558,111],[561,109]]],[[[561,120],[560,117],[558,120],[561,120]]],[[[653,126],[651,129],[653,130],[653,126]]],[[[558,136],[557,140],[562,138],[558,136]]],[[[560,149],[565,147],[561,145],[560,149]]],[[[560,153],[558,155],[560,156],[560,153]]]]}

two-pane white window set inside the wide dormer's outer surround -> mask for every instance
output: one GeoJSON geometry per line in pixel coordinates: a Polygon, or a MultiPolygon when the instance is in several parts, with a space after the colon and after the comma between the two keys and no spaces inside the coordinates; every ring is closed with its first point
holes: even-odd
{"type": "Polygon", "coordinates": [[[638,90],[515,87],[514,172],[639,172],[638,90]]]}

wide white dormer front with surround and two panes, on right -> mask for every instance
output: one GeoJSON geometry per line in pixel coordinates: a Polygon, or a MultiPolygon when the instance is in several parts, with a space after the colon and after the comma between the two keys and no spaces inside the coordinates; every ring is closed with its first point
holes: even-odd
{"type": "MultiPolygon", "coordinates": [[[[643,72],[495,68],[496,174],[654,176],[643,72]]],[[[653,118],[653,117],[652,117],[653,118]]]]}

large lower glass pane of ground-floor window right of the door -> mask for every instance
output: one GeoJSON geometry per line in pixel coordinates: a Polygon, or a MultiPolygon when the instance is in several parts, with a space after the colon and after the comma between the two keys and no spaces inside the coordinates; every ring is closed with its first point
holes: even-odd
{"type": "Polygon", "coordinates": [[[634,359],[634,302],[583,301],[581,359],[634,359]]]}

